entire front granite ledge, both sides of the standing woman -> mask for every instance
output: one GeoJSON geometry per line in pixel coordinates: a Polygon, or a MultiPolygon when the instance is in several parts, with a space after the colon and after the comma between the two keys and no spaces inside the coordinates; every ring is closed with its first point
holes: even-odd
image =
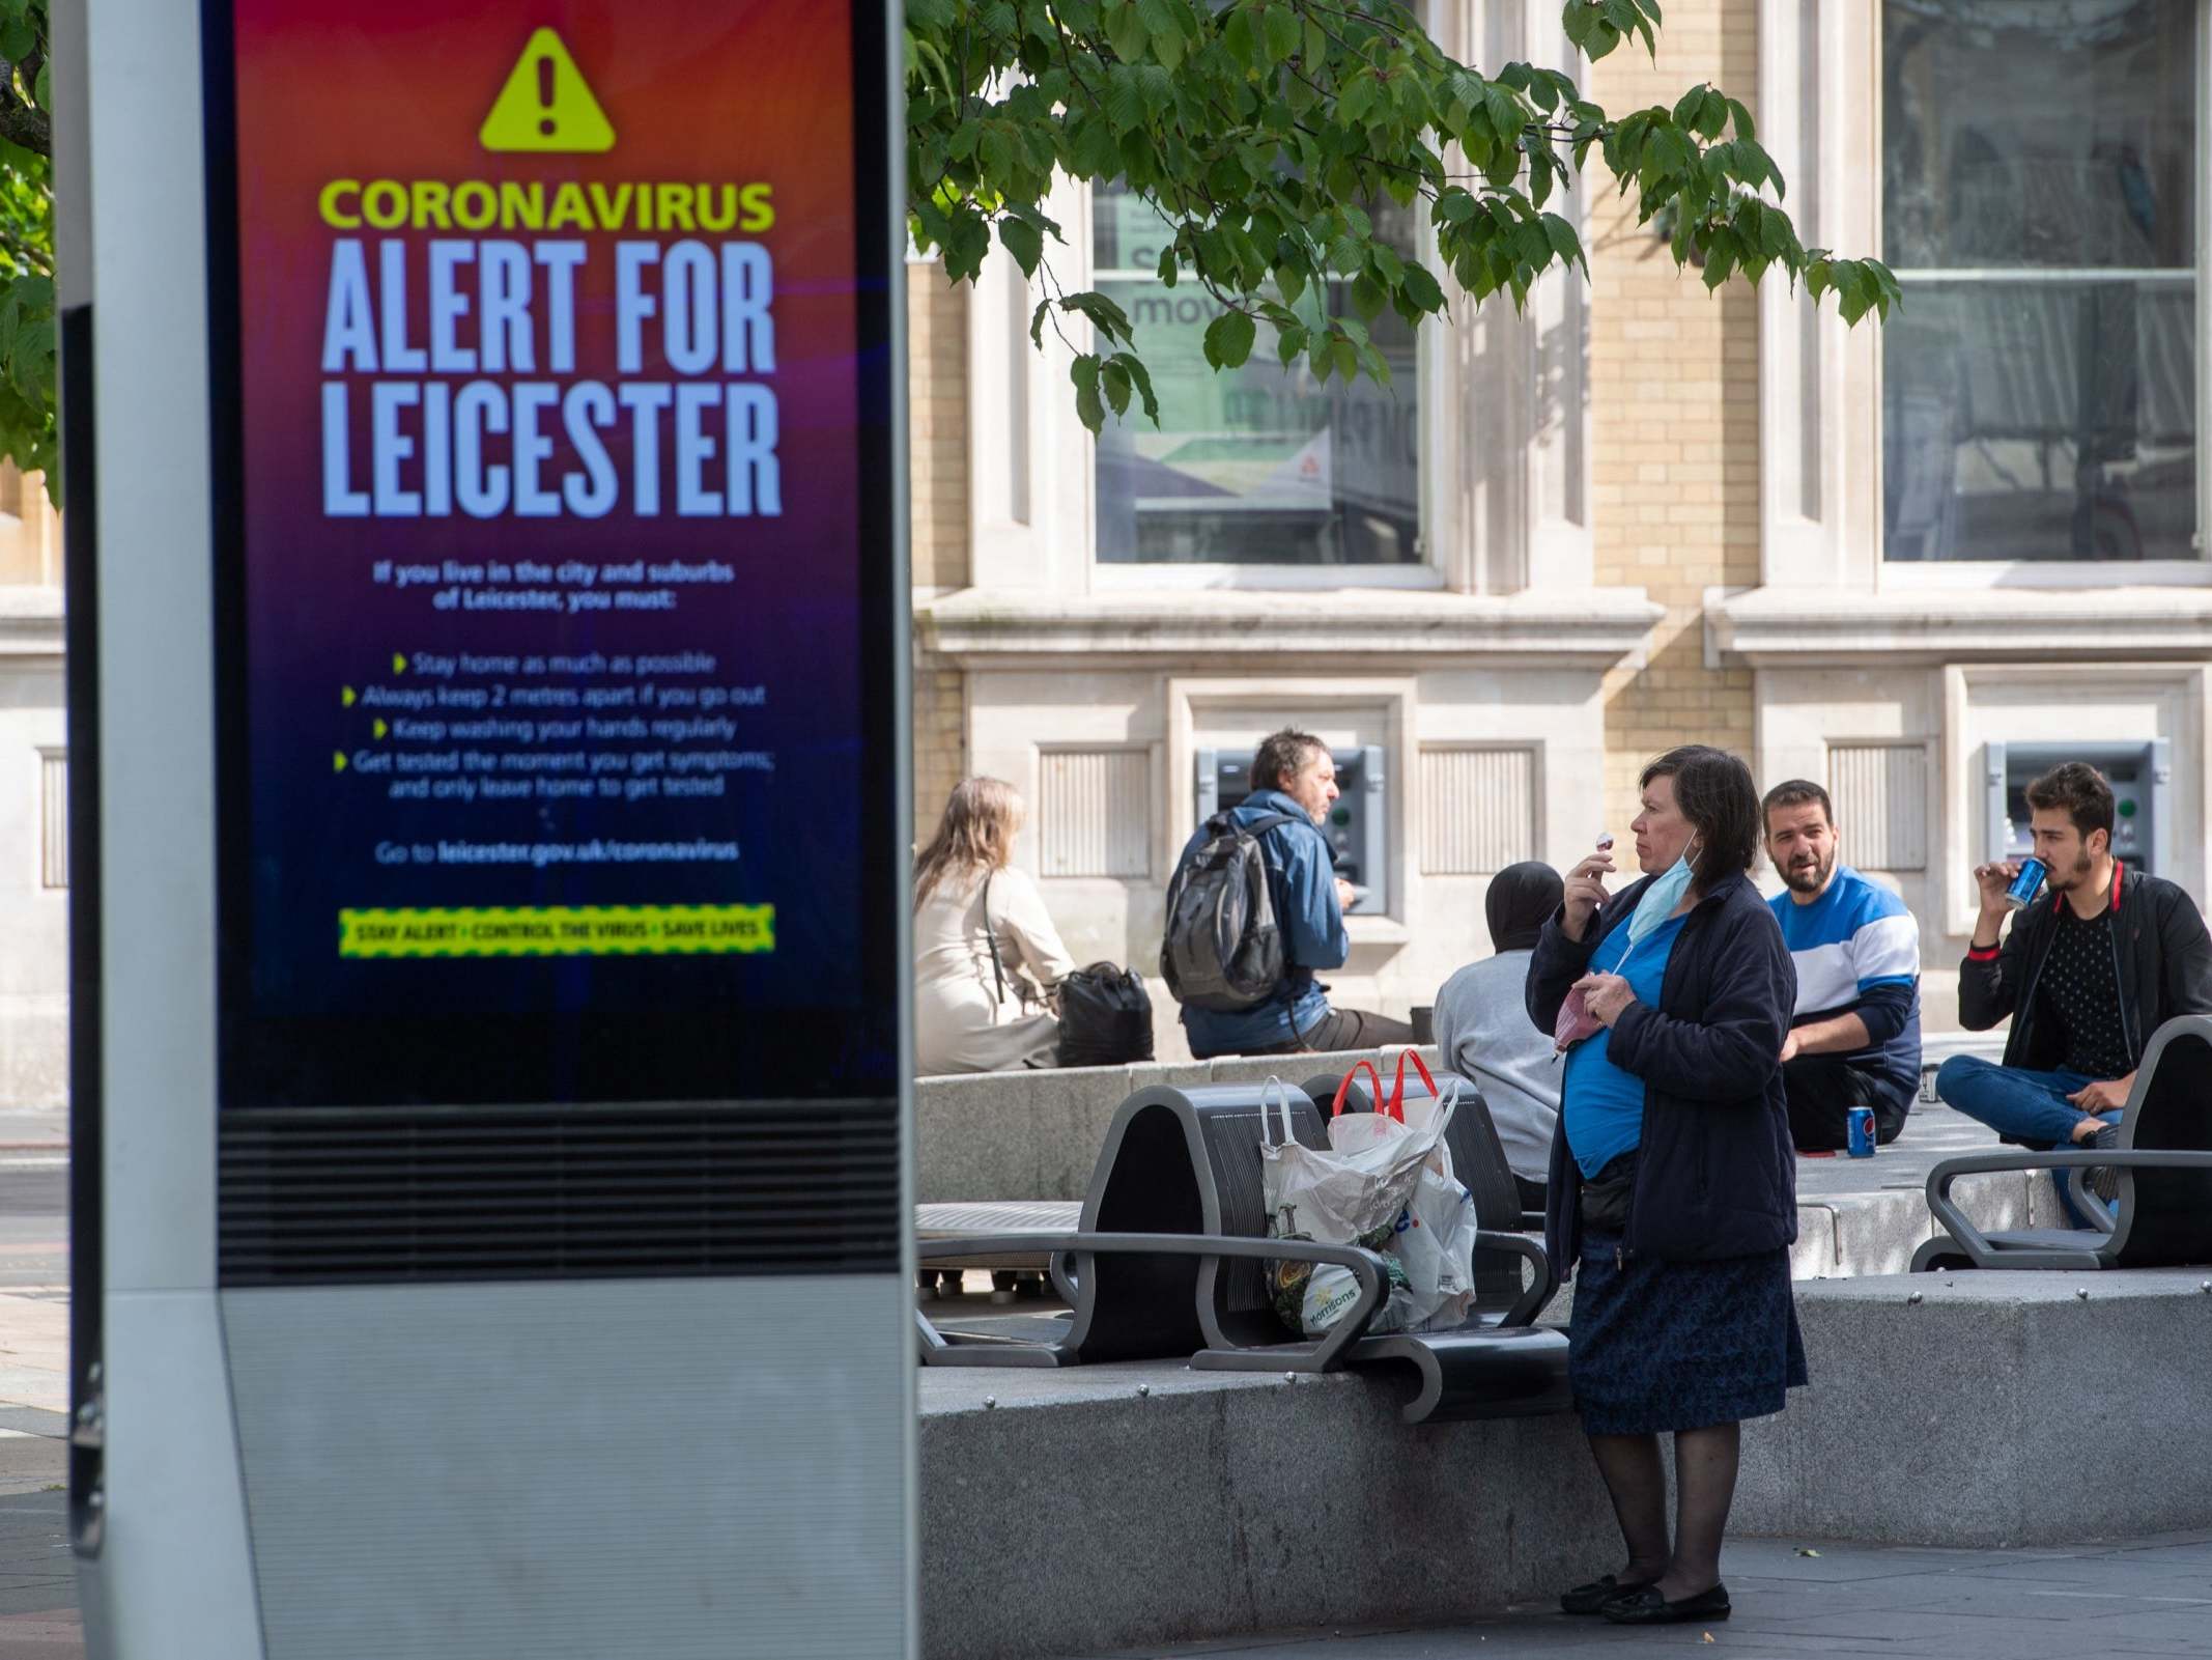
{"type": "MultiPolygon", "coordinates": [[[[1745,1425],[1732,1532],[1980,1549],[2212,1527],[2208,1286],[1801,1284],[1814,1383],[1745,1425]]],[[[1409,1430],[1387,1379],[1183,1366],[922,1368],[918,1394],[929,1660],[1442,1625],[1619,1565],[1571,1414],[1409,1430]]]]}

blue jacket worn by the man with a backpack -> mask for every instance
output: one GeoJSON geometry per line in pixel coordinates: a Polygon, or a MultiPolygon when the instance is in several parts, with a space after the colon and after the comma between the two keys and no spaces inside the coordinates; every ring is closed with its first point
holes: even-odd
{"type": "MultiPolygon", "coordinates": [[[[1234,1056],[1296,1042],[1329,1011],[1329,996],[1314,981],[1316,967],[1343,967],[1352,956],[1345,932],[1345,910],[1336,903],[1336,861],[1329,843],[1296,801],[1281,790],[1261,790],[1230,808],[1239,826],[1270,812],[1287,812],[1261,834],[1261,859],[1267,861],[1267,894],[1274,899],[1274,921],[1283,930],[1283,956],[1292,965],[1274,996],[1252,1009],[1223,1014],[1219,1009],[1183,1009],[1183,1031],[1197,1056],[1234,1056]]],[[[1206,826],[1183,843],[1183,859],[1206,845],[1206,826]]],[[[1181,861],[1177,861],[1181,870],[1181,861]]]]}

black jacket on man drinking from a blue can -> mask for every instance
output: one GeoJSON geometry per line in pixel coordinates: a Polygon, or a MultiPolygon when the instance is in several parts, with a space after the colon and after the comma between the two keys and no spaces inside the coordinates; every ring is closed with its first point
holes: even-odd
{"type": "MultiPolygon", "coordinates": [[[[2013,916],[2004,945],[1966,952],[1958,969],[1958,1023],[1989,1031],[2004,1016],[2004,1065],[2055,1071],[2066,1065],[2066,1034],[2037,1025],[2035,983],[2059,934],[2066,894],[2013,916]]],[[[2212,1014],[2212,936],[2185,890],[2159,876],[2112,865],[2112,950],[2119,956],[2119,1023],[2128,1034],[2128,1069],[2143,1062],[2150,1034],[2177,1014],[2212,1014]]]]}

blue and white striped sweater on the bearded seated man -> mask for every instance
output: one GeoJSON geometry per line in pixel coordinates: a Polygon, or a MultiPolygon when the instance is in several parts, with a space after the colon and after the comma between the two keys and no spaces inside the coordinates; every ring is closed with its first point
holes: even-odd
{"type": "Polygon", "coordinates": [[[1867,1047],[1838,1060],[1871,1073],[1907,1111],[1920,1091],[1920,923],[1902,899],[1849,865],[1809,905],[1776,894],[1767,910],[1798,974],[1790,1025],[1856,1014],[1867,1047]]]}

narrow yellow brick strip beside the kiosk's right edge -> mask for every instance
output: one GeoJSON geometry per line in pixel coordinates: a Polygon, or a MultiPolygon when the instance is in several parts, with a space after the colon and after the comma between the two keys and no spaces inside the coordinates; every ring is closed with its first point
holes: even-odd
{"type": "MultiPolygon", "coordinates": [[[[967,290],[940,266],[907,266],[907,454],[916,598],[969,582],[967,290]]],[[[914,653],[914,834],[927,839],[967,772],[967,693],[958,668],[914,653]]]]}

